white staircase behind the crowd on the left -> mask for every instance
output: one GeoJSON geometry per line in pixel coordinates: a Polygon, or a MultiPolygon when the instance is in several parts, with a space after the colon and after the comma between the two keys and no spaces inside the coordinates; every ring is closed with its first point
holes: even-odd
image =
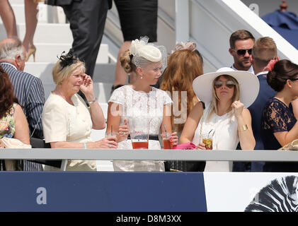
{"type": "MultiPolygon", "coordinates": [[[[16,16],[18,37],[23,40],[25,36],[25,10],[24,0],[10,0],[11,6],[16,16]]],[[[25,64],[25,72],[31,73],[42,80],[45,88],[45,99],[50,92],[55,89],[52,81],[52,67],[57,62],[57,56],[63,51],[68,52],[71,48],[73,37],[69,28],[69,23],[65,23],[64,12],[61,7],[47,6],[39,4],[38,26],[35,30],[34,44],[36,47],[35,62],[31,56],[25,64]]],[[[0,18],[0,40],[6,38],[6,30],[0,18]]],[[[106,37],[103,40],[107,40],[106,37]]],[[[115,50],[116,56],[118,49],[115,50]]],[[[94,90],[98,97],[107,118],[108,99],[110,98],[111,86],[114,82],[115,57],[109,57],[109,45],[104,41],[96,60],[96,68],[93,75],[94,90]],[[113,61],[114,59],[114,61],[113,61]]],[[[97,141],[105,136],[105,129],[98,131],[92,130],[93,141],[97,141]]],[[[98,170],[113,170],[110,161],[98,161],[98,170]]]]}

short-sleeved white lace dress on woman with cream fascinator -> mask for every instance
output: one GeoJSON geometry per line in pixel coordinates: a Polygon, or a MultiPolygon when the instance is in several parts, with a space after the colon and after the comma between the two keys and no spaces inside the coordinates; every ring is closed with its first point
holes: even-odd
{"type": "MultiPolygon", "coordinates": [[[[171,97],[164,90],[152,87],[149,93],[132,89],[131,85],[124,85],[114,90],[108,102],[122,105],[124,112],[120,124],[127,118],[129,121],[142,118],[149,120],[150,135],[158,135],[163,120],[164,105],[172,103],[171,97]]],[[[118,149],[132,149],[132,141],[121,141],[118,149]]],[[[148,149],[161,149],[159,141],[149,141],[148,149]]],[[[164,161],[113,161],[115,171],[164,171],[164,161]]]]}

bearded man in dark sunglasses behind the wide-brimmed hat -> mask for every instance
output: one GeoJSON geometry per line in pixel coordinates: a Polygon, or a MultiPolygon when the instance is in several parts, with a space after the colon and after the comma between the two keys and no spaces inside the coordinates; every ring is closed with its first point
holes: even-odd
{"type": "Polygon", "coordinates": [[[255,38],[247,30],[236,30],[229,39],[229,53],[234,58],[234,64],[231,66],[235,71],[249,71],[253,73],[251,65],[251,52],[255,38]]]}

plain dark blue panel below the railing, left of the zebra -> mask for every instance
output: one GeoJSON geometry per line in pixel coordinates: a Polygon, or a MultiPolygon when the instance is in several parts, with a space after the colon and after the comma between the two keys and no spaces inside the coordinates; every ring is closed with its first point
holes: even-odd
{"type": "Polygon", "coordinates": [[[0,211],[207,211],[200,172],[0,172],[0,180],[0,211]]]}

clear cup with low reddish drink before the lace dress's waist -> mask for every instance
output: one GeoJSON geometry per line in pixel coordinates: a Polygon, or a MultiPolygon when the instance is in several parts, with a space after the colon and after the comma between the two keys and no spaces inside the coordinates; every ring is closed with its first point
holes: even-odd
{"type": "Polygon", "coordinates": [[[146,119],[130,119],[130,139],[133,149],[148,149],[149,147],[149,121],[146,119]]]}

